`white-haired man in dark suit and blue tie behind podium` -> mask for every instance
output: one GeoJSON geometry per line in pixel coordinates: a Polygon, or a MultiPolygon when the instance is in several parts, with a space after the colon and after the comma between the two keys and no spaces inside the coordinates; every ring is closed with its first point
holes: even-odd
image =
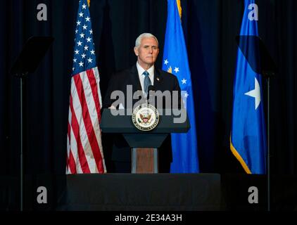
{"type": "MultiPolygon", "coordinates": [[[[113,91],[127,93],[127,86],[132,85],[132,93],[142,91],[144,96],[148,94],[148,86],[153,85],[155,91],[178,91],[180,87],[177,77],[155,68],[154,63],[158,57],[158,39],[153,34],[144,33],[139,35],[135,41],[134,53],[137,56],[137,63],[132,68],[116,72],[110,79],[108,90],[103,101],[103,108],[112,107],[115,99],[110,95],[113,91]]],[[[126,108],[127,99],[132,96],[125,96],[125,103],[121,104],[126,108]]],[[[133,99],[133,104],[137,99],[133,99]]],[[[120,107],[121,107],[120,106],[120,107]]],[[[131,172],[131,148],[122,135],[113,136],[113,172],[131,172]]],[[[158,150],[159,172],[170,172],[170,162],[172,162],[172,149],[170,135],[165,139],[163,145],[158,150]]]]}

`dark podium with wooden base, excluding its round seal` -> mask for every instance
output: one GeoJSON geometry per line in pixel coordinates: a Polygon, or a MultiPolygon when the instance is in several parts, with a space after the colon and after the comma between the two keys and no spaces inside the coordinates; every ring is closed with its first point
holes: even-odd
{"type": "MultiPolygon", "coordinates": [[[[170,133],[187,133],[190,128],[189,120],[177,122],[174,115],[160,113],[158,126],[151,131],[141,131],[134,127],[132,115],[127,110],[117,110],[119,115],[113,115],[110,109],[103,109],[101,130],[104,133],[122,134],[132,149],[132,174],[158,173],[158,148],[170,133]]],[[[182,115],[187,115],[183,110],[182,115]]],[[[169,114],[169,113],[168,113],[169,114]]]]}

